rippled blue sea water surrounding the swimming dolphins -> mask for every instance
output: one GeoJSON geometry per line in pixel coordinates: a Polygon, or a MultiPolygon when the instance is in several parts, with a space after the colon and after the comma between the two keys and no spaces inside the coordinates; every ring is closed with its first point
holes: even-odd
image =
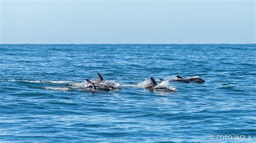
{"type": "Polygon", "coordinates": [[[0,46],[0,141],[256,140],[255,44],[0,46]],[[120,89],[72,90],[97,72],[120,89]],[[206,82],[138,86],[176,75],[206,82]]]}

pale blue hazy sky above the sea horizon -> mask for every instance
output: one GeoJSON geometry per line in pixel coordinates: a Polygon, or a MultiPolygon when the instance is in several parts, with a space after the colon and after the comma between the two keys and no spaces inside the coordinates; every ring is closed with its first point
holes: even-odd
{"type": "Polygon", "coordinates": [[[1,44],[255,43],[255,1],[2,1],[1,44]]]}

